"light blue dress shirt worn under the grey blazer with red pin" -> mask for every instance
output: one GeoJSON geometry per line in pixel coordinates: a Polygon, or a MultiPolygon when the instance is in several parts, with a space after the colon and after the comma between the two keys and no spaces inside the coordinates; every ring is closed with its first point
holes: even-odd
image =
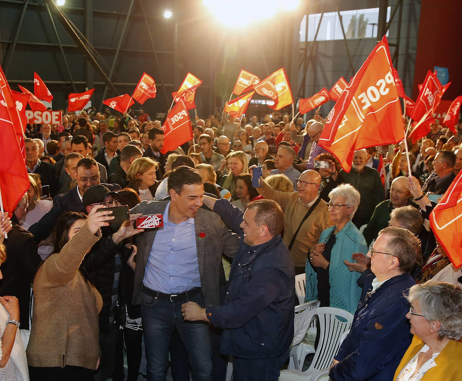
{"type": "Polygon", "coordinates": [[[180,224],[168,221],[170,203],[165,208],[164,226],[154,237],[143,285],[164,294],[177,294],[201,287],[197,260],[194,218],[180,224]]]}

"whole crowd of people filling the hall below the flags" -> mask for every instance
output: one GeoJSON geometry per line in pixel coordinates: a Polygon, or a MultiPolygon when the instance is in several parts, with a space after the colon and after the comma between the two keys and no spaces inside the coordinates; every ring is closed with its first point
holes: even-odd
{"type": "Polygon", "coordinates": [[[354,314],[333,381],[461,379],[462,272],[429,215],[462,169],[462,123],[435,121],[409,155],[355,151],[349,173],[323,123],[196,117],[166,153],[144,111],[28,125],[30,188],[0,229],[0,378],[133,381],[144,339],[148,380],[224,380],[228,356],[235,380],[276,380],[305,274],[305,302],[354,314]]]}

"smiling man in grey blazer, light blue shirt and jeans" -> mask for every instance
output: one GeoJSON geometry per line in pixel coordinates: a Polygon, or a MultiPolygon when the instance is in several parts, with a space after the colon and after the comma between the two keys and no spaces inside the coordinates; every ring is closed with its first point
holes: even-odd
{"type": "Polygon", "coordinates": [[[192,373],[208,379],[212,371],[208,328],[185,323],[181,305],[192,300],[218,306],[221,255],[234,256],[239,238],[217,214],[201,208],[204,186],[194,169],[173,170],[168,187],[170,202],[142,202],[131,210],[163,213],[164,218],[163,228],[147,229],[137,239],[133,304],[141,304],[148,378],[165,377],[170,336],[177,328],[192,373]]]}

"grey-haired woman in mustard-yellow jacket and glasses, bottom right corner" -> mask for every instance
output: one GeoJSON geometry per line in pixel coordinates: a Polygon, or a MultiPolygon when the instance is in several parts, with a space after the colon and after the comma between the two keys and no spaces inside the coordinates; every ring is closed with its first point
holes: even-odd
{"type": "Polygon", "coordinates": [[[414,334],[393,380],[460,380],[462,290],[450,283],[414,285],[406,317],[414,334]]]}

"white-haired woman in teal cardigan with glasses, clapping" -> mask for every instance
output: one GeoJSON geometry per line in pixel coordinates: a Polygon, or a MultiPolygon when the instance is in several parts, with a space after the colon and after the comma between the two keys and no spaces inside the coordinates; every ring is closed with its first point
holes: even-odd
{"type": "Polygon", "coordinates": [[[321,307],[356,311],[361,289],[358,273],[343,265],[353,253],[367,253],[365,239],[351,222],[358,209],[360,195],[350,184],[342,184],[329,193],[328,211],[334,226],[322,231],[319,243],[309,252],[306,263],[306,298],[318,298],[321,307]]]}

